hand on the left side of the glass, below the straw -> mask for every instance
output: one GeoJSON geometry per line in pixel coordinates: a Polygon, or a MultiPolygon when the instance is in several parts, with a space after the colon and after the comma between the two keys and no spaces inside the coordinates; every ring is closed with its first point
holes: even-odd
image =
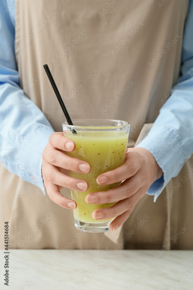
{"type": "Polygon", "coordinates": [[[69,177],[68,171],[89,173],[89,163],[66,155],[66,151],[72,152],[76,144],[62,132],[56,132],[49,136],[42,154],[42,177],[49,198],[65,209],[76,209],[76,202],[64,197],[60,190],[63,187],[77,191],[86,191],[89,187],[85,180],[69,177]]]}

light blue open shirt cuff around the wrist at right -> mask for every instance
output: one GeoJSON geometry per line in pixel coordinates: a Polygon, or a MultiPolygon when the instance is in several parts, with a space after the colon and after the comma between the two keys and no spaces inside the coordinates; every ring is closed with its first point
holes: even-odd
{"type": "Polygon", "coordinates": [[[149,195],[154,195],[154,202],[170,179],[177,176],[184,164],[182,146],[177,142],[182,135],[183,131],[153,125],[148,135],[136,146],[147,149],[163,171],[162,177],[147,191],[149,195]]]}

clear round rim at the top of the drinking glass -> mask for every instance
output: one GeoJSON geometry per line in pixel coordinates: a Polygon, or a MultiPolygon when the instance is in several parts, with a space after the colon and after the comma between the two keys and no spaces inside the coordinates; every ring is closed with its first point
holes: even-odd
{"type": "Polygon", "coordinates": [[[115,128],[127,128],[128,126],[130,126],[130,123],[129,122],[126,122],[126,121],[122,121],[122,120],[115,120],[115,119],[74,119],[72,120],[72,122],[75,122],[75,121],[111,121],[111,122],[122,122],[124,123],[123,125],[118,125],[118,126],[108,126],[108,128],[104,128],[104,127],[107,127],[106,125],[104,126],[78,126],[78,125],[69,125],[67,124],[67,121],[62,123],[64,126],[68,127],[68,128],[84,128],[84,129],[87,129],[87,130],[91,130],[91,127],[93,127],[94,130],[101,130],[101,128],[103,130],[110,130],[110,129],[115,129],[115,128]]]}

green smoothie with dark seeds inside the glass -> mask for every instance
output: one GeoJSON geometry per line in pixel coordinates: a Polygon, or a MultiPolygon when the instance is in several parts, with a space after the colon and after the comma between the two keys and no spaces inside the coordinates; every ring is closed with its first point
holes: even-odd
{"type": "Polygon", "coordinates": [[[109,220],[94,220],[92,213],[95,209],[110,207],[116,202],[111,204],[89,204],[85,202],[85,197],[88,193],[107,191],[121,184],[121,182],[117,182],[110,185],[98,185],[96,179],[102,173],[124,164],[128,134],[121,131],[79,131],[78,134],[72,133],[71,135],[64,132],[64,136],[76,143],[76,149],[73,152],[66,152],[66,154],[86,161],[91,166],[91,171],[88,174],[69,171],[69,176],[86,180],[89,184],[89,188],[85,192],[71,190],[72,199],[77,203],[74,217],[81,222],[89,223],[102,223],[113,220],[113,218],[109,220]]]}

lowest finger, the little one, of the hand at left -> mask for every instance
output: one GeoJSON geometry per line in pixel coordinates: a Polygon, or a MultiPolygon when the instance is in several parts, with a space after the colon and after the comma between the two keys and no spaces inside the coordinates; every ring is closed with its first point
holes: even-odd
{"type": "Polygon", "coordinates": [[[59,190],[59,186],[53,184],[49,180],[46,180],[45,187],[49,198],[58,204],[59,206],[64,207],[65,209],[76,209],[76,202],[70,198],[64,197],[59,190]]]}

